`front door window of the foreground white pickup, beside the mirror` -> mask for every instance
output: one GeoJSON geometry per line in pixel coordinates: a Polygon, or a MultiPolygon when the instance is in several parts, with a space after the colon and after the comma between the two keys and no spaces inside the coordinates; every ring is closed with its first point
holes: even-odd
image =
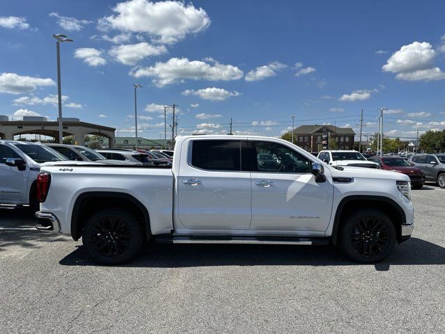
{"type": "Polygon", "coordinates": [[[250,141],[249,149],[256,154],[250,171],[266,173],[309,173],[309,159],[279,143],[250,141]]]}

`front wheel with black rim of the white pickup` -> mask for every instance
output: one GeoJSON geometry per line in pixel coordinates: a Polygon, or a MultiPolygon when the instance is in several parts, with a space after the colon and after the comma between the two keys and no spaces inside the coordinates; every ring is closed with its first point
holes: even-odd
{"type": "Polygon", "coordinates": [[[362,209],[349,216],[339,237],[342,252],[360,263],[385,260],[396,245],[394,224],[375,209],[362,209]]]}

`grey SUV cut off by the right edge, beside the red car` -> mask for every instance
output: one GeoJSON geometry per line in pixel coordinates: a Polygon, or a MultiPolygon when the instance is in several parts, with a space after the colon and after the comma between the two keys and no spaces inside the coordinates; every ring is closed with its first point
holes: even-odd
{"type": "Polygon", "coordinates": [[[410,162],[425,172],[425,180],[445,188],[445,154],[416,154],[410,162]]]}

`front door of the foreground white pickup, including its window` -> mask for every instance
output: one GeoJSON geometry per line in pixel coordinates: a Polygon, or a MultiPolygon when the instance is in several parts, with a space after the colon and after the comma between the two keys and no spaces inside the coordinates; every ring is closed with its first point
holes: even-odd
{"type": "Polygon", "coordinates": [[[250,230],[324,232],[332,211],[332,177],[326,175],[325,182],[315,182],[312,161],[281,143],[249,141],[248,147],[250,157],[246,159],[252,175],[250,230]],[[275,161],[265,164],[255,159],[261,154],[275,161]]]}

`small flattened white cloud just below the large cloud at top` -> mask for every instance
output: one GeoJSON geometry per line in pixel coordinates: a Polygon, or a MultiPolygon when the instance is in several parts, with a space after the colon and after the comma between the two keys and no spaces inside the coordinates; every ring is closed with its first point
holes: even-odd
{"type": "Polygon", "coordinates": [[[124,65],[136,65],[143,58],[166,54],[167,48],[163,45],[149,45],[147,42],[140,42],[112,47],[108,53],[124,65]]]}

